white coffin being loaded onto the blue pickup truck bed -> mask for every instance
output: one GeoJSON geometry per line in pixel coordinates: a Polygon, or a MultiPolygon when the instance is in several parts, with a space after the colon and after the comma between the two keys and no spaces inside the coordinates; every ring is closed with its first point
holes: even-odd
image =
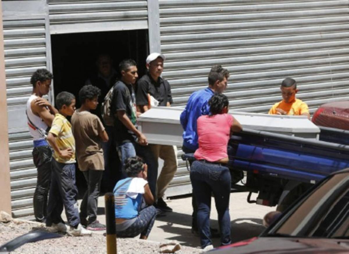
{"type": "MultiPolygon", "coordinates": [[[[153,107],[138,118],[139,130],[150,144],[182,145],[179,117],[183,107],[153,107]]],[[[243,128],[318,139],[320,129],[305,116],[229,112],[243,128]]]]}

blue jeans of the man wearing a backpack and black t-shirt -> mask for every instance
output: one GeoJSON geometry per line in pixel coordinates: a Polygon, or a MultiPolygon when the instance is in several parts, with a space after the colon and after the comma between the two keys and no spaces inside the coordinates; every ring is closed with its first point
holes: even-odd
{"type": "Polygon", "coordinates": [[[157,167],[158,162],[154,159],[153,152],[151,152],[151,149],[149,145],[140,145],[138,143],[133,142],[125,142],[118,146],[120,154],[121,154],[121,171],[122,171],[122,177],[126,178],[125,173],[125,160],[128,157],[133,157],[138,155],[141,157],[145,163],[148,165],[148,184],[151,191],[151,194],[153,194],[154,198],[156,197],[156,180],[157,180],[157,167]]]}

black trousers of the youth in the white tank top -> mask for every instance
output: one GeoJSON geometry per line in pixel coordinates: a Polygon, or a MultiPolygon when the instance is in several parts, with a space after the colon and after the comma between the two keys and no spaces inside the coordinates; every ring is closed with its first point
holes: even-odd
{"type": "Polygon", "coordinates": [[[34,165],[37,168],[37,182],[34,192],[34,216],[39,222],[44,222],[47,210],[47,195],[51,181],[52,151],[49,146],[35,147],[32,152],[34,165]]]}

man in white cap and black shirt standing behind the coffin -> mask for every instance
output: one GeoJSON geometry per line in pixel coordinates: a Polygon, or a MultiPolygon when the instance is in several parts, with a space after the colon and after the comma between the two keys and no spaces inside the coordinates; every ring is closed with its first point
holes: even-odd
{"type": "MultiPolygon", "coordinates": [[[[150,100],[153,98],[156,100],[157,106],[170,106],[173,103],[170,84],[161,77],[164,60],[165,56],[160,53],[151,53],[147,57],[148,72],[137,82],[136,90],[136,104],[141,113],[150,109],[153,104],[150,100]]],[[[163,195],[177,171],[177,148],[172,145],[159,144],[151,144],[150,148],[156,160],[159,157],[164,160],[164,166],[157,179],[155,206],[163,212],[171,212],[172,209],[163,200],[163,195]]]]}

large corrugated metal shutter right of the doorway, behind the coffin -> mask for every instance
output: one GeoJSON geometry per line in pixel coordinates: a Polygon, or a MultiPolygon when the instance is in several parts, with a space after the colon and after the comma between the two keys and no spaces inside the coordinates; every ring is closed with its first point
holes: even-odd
{"type": "MultiPolygon", "coordinates": [[[[234,110],[267,113],[282,99],[285,77],[297,80],[297,97],[311,112],[322,103],[349,99],[348,4],[159,0],[163,77],[171,84],[174,104],[185,105],[192,92],[206,87],[214,64],[231,73],[225,94],[234,110]]],[[[187,188],[180,159],[179,165],[169,193],[187,188]]]]}

